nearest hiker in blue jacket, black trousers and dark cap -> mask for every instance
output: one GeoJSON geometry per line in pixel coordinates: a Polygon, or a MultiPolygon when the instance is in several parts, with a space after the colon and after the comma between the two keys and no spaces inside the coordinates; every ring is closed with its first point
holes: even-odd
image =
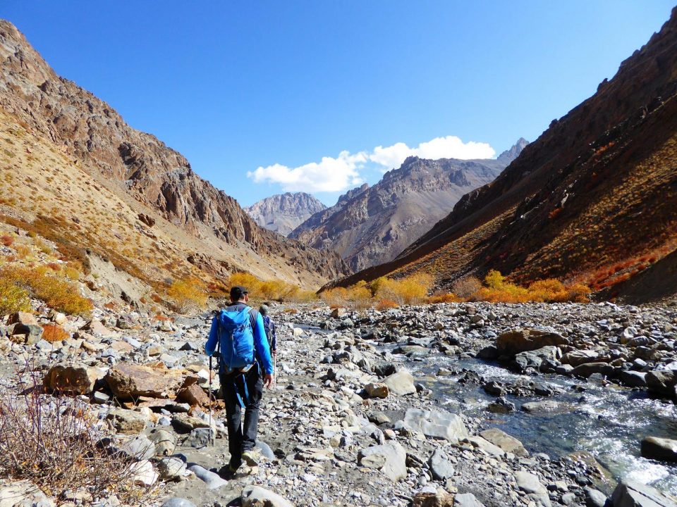
{"type": "Polygon", "coordinates": [[[255,453],[263,386],[273,383],[273,364],[261,314],[248,306],[245,287],[231,288],[231,306],[214,315],[207,356],[219,351],[219,379],[226,404],[231,460],[219,470],[233,477],[242,462],[257,464],[255,453]],[[262,370],[262,371],[261,371],[262,370]],[[245,409],[244,428],[241,423],[245,409]]]}

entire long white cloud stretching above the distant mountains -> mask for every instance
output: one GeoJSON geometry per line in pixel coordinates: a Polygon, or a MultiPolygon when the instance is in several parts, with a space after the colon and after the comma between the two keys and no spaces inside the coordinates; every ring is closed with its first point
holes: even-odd
{"type": "Polygon", "coordinates": [[[496,151],[487,143],[470,141],[464,143],[456,136],[436,137],[410,148],[403,142],[391,146],[377,146],[371,153],[360,151],[350,154],[341,151],[338,157],[322,157],[296,168],[276,163],[249,171],[247,177],[256,183],[280,184],[286,192],[341,192],[362,184],[360,170],[372,162],[381,166],[382,172],[398,168],[408,156],[420,158],[494,158],[496,151]]]}

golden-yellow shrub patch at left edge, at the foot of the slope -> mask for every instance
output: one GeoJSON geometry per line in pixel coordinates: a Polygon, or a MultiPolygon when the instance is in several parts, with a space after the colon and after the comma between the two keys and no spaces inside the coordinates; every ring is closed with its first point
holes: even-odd
{"type": "Polygon", "coordinates": [[[75,284],[48,272],[49,268],[44,265],[37,268],[6,266],[0,271],[0,278],[17,284],[54,310],[71,315],[86,315],[92,311],[92,301],[80,296],[75,284]]]}

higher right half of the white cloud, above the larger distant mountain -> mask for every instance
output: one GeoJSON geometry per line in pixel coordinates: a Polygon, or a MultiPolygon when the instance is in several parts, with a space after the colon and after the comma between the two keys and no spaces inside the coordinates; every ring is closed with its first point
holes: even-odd
{"type": "Polygon", "coordinates": [[[428,142],[422,142],[417,148],[410,148],[404,143],[392,146],[377,146],[369,156],[370,161],[386,166],[386,170],[398,168],[408,156],[420,158],[494,158],[496,151],[488,143],[469,141],[464,143],[456,136],[435,137],[428,142]]]}

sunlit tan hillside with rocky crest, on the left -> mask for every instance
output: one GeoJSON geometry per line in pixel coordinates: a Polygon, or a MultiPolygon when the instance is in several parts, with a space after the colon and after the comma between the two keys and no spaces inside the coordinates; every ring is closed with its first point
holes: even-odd
{"type": "Polygon", "coordinates": [[[313,287],[348,272],[338,256],[257,226],[181,154],[56,75],[7,21],[0,132],[2,213],[151,282],[248,270],[313,287]]]}

